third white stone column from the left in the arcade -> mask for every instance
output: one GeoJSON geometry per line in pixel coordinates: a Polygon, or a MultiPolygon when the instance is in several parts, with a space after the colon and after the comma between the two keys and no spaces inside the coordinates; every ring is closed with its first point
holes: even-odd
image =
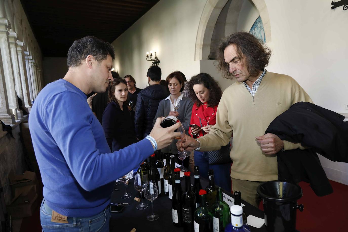
{"type": "Polygon", "coordinates": [[[17,40],[17,56],[18,56],[19,73],[20,73],[21,82],[22,82],[24,106],[26,109],[28,109],[28,112],[30,112],[31,98],[30,98],[30,91],[29,91],[29,83],[27,81],[28,77],[27,77],[26,65],[25,65],[25,54],[23,49],[23,42],[19,40],[17,40]]]}

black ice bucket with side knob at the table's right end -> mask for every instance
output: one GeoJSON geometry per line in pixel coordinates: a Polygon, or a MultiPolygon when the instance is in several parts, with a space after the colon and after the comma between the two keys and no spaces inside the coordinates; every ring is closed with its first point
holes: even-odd
{"type": "Polygon", "coordinates": [[[260,184],[257,193],[262,198],[264,222],[268,232],[293,232],[296,226],[297,205],[302,189],[297,184],[283,181],[268,181],[260,184]]]}

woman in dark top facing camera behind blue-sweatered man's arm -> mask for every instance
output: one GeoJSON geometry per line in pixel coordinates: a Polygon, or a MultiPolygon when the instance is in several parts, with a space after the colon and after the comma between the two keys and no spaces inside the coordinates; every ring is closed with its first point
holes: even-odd
{"type": "Polygon", "coordinates": [[[127,107],[127,83],[121,78],[110,82],[109,104],[103,112],[102,126],[112,152],[136,143],[134,124],[127,107]]]}

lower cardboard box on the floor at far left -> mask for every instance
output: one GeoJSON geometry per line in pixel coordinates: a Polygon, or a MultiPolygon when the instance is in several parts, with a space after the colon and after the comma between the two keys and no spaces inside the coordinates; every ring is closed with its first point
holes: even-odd
{"type": "Polygon", "coordinates": [[[30,217],[38,206],[38,194],[35,185],[19,187],[15,189],[15,197],[8,205],[7,213],[13,219],[30,217]]]}

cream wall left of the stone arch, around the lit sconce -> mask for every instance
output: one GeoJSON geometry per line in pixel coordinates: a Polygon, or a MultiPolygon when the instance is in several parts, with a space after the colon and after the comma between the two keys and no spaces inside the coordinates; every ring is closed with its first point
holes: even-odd
{"type": "Polygon", "coordinates": [[[187,78],[199,73],[195,43],[203,0],[161,0],[117,38],[114,68],[121,76],[132,75],[139,88],[148,85],[146,74],[151,62],[146,52],[157,51],[162,79],[175,70],[187,78]]]}

